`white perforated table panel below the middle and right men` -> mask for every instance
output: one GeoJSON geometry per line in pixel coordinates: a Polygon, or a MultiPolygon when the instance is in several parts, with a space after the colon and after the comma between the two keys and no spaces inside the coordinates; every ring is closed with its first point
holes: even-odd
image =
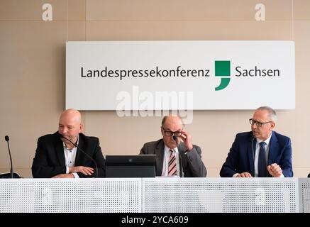
{"type": "Polygon", "coordinates": [[[298,212],[294,178],[143,179],[143,212],[298,212]]]}

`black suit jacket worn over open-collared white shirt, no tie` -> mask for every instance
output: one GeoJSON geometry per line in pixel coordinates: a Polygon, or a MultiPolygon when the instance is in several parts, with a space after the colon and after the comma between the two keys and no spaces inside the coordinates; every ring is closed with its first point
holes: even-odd
{"type": "MultiPolygon", "coordinates": [[[[31,167],[34,178],[49,178],[66,173],[63,143],[57,135],[58,132],[52,135],[43,135],[38,138],[38,147],[35,151],[35,157],[31,167]]],[[[85,153],[95,160],[98,167],[98,177],[104,177],[105,160],[99,146],[99,138],[79,133],[79,148],[84,150],[85,153]]],[[[92,167],[94,168],[94,173],[91,176],[86,176],[81,172],[77,174],[79,177],[96,177],[94,162],[84,155],[79,148],[77,148],[75,166],[82,165],[92,167]]]]}

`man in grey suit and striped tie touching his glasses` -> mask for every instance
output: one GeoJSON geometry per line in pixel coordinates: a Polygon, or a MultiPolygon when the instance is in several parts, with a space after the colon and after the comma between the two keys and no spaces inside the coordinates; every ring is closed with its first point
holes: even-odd
{"type": "Polygon", "coordinates": [[[162,119],[162,139],[145,143],[140,155],[156,155],[156,176],[206,177],[201,149],[192,144],[179,116],[162,119]]]}

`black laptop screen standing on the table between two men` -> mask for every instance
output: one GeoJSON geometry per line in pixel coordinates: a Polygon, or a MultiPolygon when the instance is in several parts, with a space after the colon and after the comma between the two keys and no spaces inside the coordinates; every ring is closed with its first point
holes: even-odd
{"type": "Polygon", "coordinates": [[[106,177],[155,177],[156,155],[106,155],[106,177]]]}

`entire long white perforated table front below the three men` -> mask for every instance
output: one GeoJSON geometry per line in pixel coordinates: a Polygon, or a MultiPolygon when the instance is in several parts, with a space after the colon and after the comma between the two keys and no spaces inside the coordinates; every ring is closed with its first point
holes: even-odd
{"type": "Polygon", "coordinates": [[[310,212],[310,179],[0,179],[0,212],[310,212]]]}

